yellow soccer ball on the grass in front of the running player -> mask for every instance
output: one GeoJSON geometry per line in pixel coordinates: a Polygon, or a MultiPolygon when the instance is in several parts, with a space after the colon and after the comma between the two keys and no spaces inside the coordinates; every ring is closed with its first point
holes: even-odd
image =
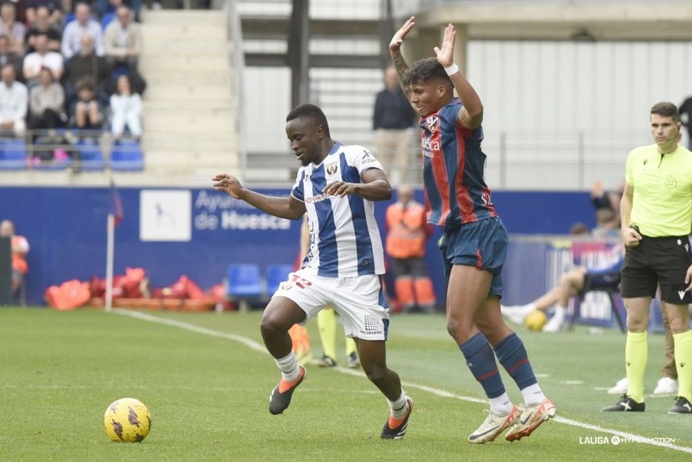
{"type": "Polygon", "coordinates": [[[143,402],[134,398],[120,398],[106,409],[103,426],[113,441],[139,443],[149,434],[152,416],[143,402]]]}

